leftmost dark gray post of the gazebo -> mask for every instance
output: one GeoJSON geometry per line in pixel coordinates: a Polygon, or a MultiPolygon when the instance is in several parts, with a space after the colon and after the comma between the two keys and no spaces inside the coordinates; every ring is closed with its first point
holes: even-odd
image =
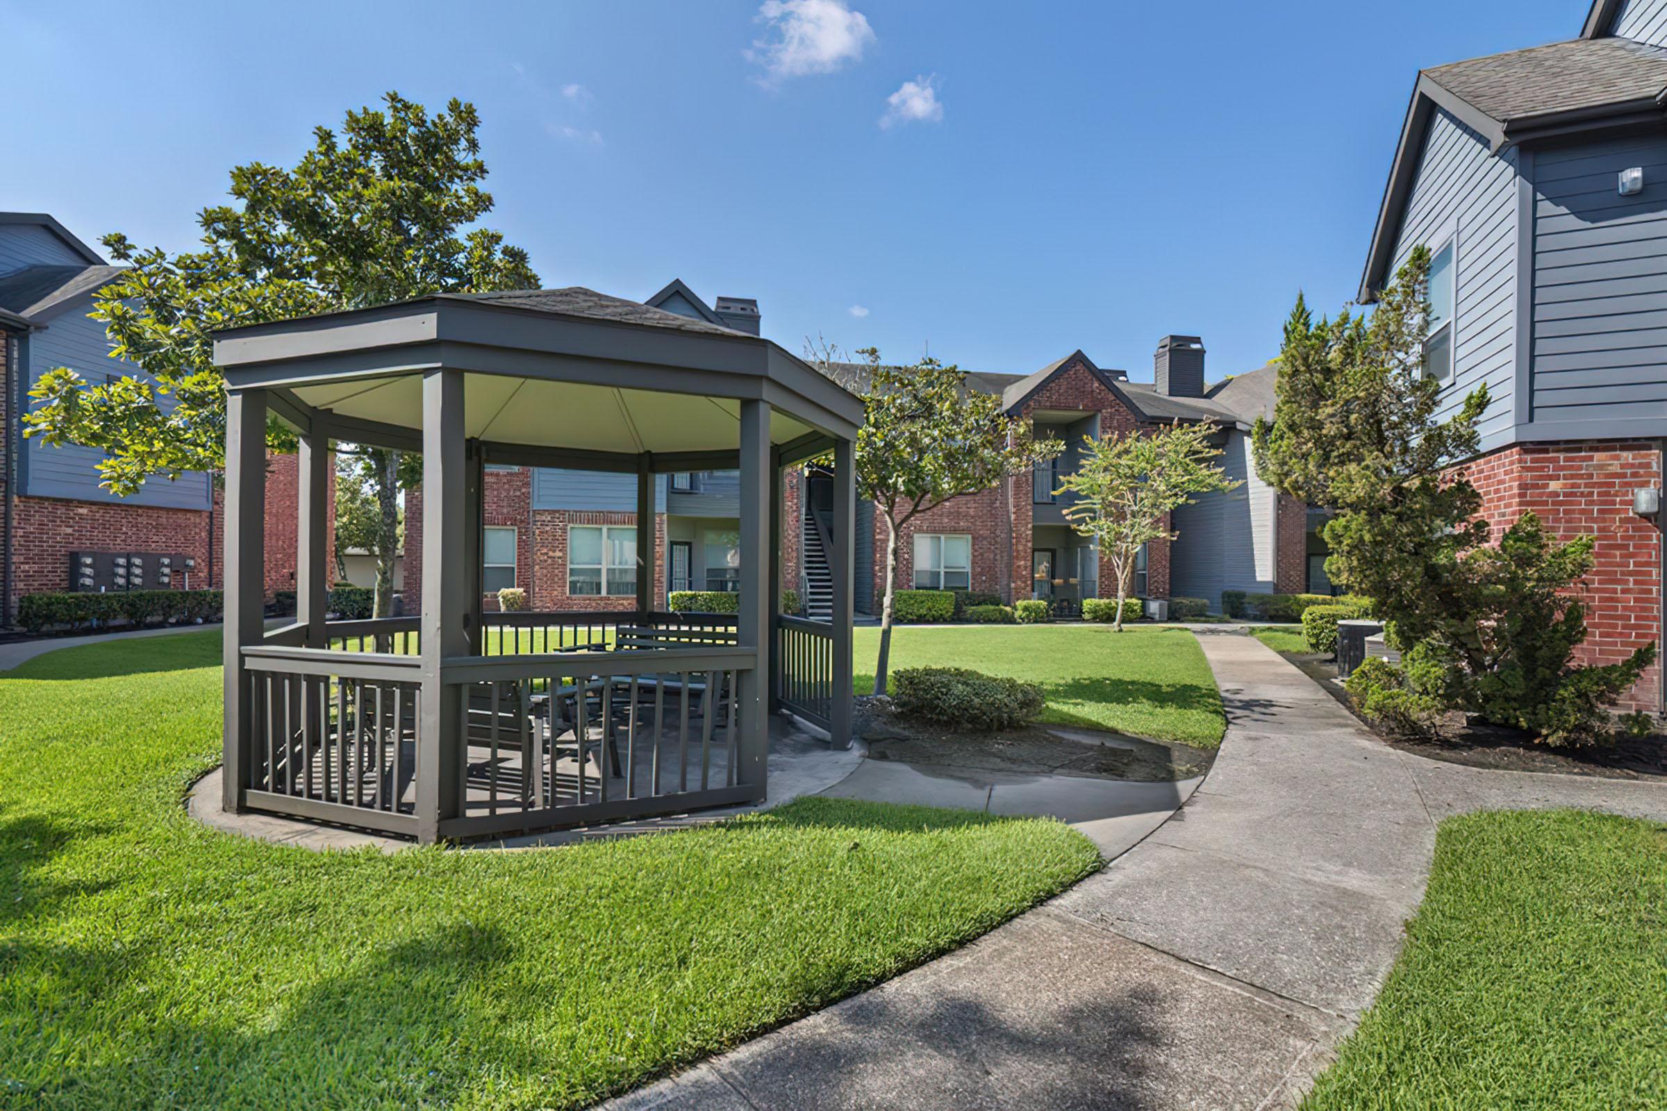
{"type": "Polygon", "coordinates": [[[225,400],[225,740],[220,806],[238,813],[253,776],[252,685],[243,646],[265,635],[267,610],[267,391],[242,390],[225,400]]]}

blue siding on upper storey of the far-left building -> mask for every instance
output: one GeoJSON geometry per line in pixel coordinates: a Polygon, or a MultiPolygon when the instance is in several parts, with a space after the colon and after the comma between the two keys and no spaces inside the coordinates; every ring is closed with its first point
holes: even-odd
{"type": "MultiPolygon", "coordinates": [[[[7,230],[7,228],[0,228],[7,230]]],[[[30,338],[28,380],[57,366],[70,366],[83,376],[143,376],[137,366],[110,358],[103,325],[88,318],[92,296],[53,316],[45,331],[30,338]]],[[[25,441],[23,493],[37,498],[77,498],[82,501],[117,501],[122,505],[207,510],[212,486],[207,475],[185,475],[177,481],[152,478],[130,498],[118,498],[98,485],[102,451],[95,448],[52,448],[38,438],[25,441]]]]}

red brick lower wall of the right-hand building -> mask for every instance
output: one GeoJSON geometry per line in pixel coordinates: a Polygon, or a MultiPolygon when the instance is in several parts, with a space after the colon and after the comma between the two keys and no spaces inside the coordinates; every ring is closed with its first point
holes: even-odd
{"type": "MultiPolygon", "coordinates": [[[[1595,538],[1595,566],[1579,590],[1589,628],[1582,661],[1614,663],[1660,640],[1660,530],[1632,511],[1634,490],[1662,485],[1654,443],[1519,445],[1484,455],[1462,471],[1482,493],[1482,516],[1495,538],[1530,510],[1560,540],[1595,538]]],[[[1624,706],[1659,711],[1660,680],[1657,663],[1624,706]]]]}

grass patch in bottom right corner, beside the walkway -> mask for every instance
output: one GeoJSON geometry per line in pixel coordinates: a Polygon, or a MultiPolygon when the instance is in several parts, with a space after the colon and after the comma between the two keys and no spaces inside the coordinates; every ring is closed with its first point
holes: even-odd
{"type": "Polygon", "coordinates": [[[1667,826],[1450,818],[1407,949],[1302,1104],[1667,1108],[1667,826]]]}

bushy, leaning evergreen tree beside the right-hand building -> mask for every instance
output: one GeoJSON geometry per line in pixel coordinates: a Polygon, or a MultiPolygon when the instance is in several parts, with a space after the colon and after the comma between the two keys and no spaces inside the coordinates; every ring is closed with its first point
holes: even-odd
{"type": "Polygon", "coordinates": [[[1255,426],[1259,471],[1279,490],[1334,510],[1325,525],[1334,581],[1369,595],[1409,650],[1407,685],[1450,708],[1517,725],[1549,743],[1597,738],[1600,708],[1655,658],[1574,663],[1585,638],[1570,588],[1592,541],[1549,538],[1524,515],[1499,546],[1460,465],[1479,450],[1479,386],[1445,420],[1442,383],[1424,373],[1429,252],[1414,250],[1370,316],[1285,321],[1274,420],[1255,426]]]}

